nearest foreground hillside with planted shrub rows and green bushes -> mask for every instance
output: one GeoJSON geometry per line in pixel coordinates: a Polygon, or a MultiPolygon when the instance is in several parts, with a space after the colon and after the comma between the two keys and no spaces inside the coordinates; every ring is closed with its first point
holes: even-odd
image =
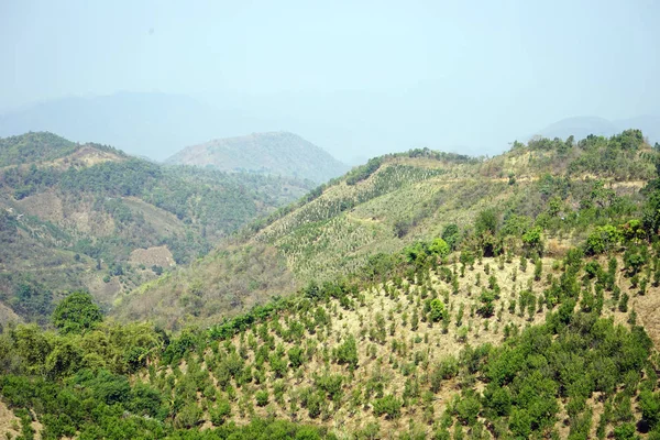
{"type": "MultiPolygon", "coordinates": [[[[28,438],[658,439],[659,187],[644,221],[612,221],[561,257],[546,230],[494,256],[488,241],[452,252],[437,238],[176,336],[103,322],[73,295],[56,331],[0,334],[7,425],[28,438]]],[[[475,229],[493,227],[484,212],[475,229]]]]}

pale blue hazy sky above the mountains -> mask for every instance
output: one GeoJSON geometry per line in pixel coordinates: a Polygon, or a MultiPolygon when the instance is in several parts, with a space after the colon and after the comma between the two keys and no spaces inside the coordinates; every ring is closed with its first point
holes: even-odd
{"type": "Polygon", "coordinates": [[[490,153],[566,117],[659,114],[659,22],[654,0],[0,0],[0,112],[158,91],[344,160],[490,153]]]}

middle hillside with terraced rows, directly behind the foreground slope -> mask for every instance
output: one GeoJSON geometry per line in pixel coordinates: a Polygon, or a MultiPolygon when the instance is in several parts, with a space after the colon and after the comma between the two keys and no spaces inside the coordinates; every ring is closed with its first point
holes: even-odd
{"type": "Polygon", "coordinates": [[[540,227],[548,231],[548,254],[562,255],[594,227],[638,213],[653,160],[638,131],[572,144],[516,143],[488,160],[428,150],[375,158],[253,223],[193,266],[141,286],[117,314],[144,319],[153,311],[175,327],[210,323],[436,237],[487,239],[498,249],[540,227]],[[493,237],[473,228],[487,210],[496,213],[493,237]]]}

